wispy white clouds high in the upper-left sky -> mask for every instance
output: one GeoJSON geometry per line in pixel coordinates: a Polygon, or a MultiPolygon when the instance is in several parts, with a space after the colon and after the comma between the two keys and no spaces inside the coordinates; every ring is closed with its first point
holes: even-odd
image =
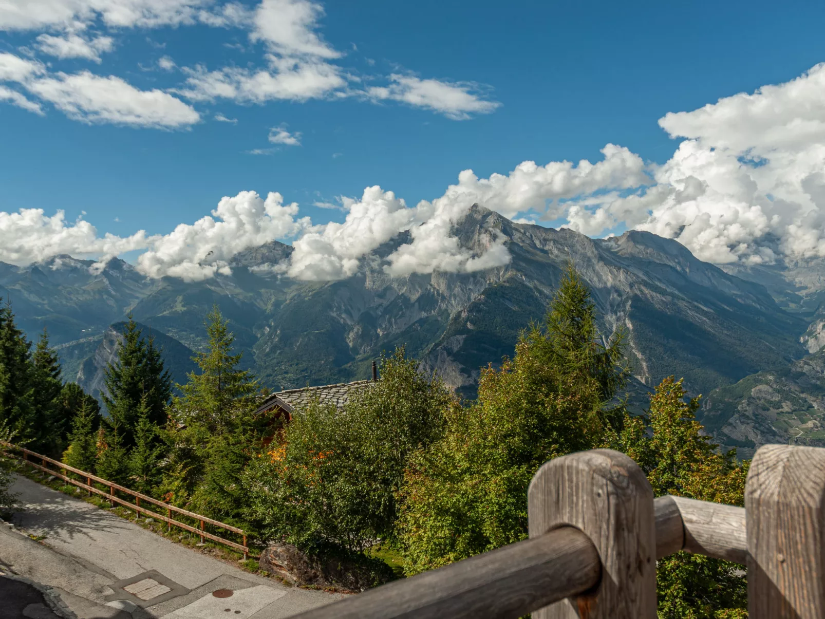
{"type": "Polygon", "coordinates": [[[340,62],[346,54],[323,39],[323,14],[314,0],[261,0],[252,5],[212,0],[4,0],[0,31],[32,38],[19,54],[0,54],[0,102],[41,115],[51,104],[86,123],[167,130],[196,125],[204,116],[202,108],[218,100],[241,105],[347,98],[402,102],[455,120],[499,106],[475,83],[413,73],[354,74],[340,62]],[[178,67],[164,56],[159,68],[177,73],[179,83],[147,91],[116,75],[54,71],[37,58],[105,65],[106,54],[117,49],[128,31],[198,25],[244,33],[260,53],[257,65],[178,67]]]}

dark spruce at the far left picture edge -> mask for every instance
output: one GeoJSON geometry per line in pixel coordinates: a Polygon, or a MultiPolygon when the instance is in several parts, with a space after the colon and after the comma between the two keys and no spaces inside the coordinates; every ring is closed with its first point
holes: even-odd
{"type": "Polygon", "coordinates": [[[17,328],[12,305],[0,305],[0,421],[19,443],[40,438],[33,379],[31,343],[17,328]]]}

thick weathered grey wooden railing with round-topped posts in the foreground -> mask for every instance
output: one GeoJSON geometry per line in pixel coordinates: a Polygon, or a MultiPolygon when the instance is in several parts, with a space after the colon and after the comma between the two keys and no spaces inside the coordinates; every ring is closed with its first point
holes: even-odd
{"type": "Polygon", "coordinates": [[[745,508],[653,499],[628,456],[581,451],[540,468],[528,516],[528,540],[293,619],[655,619],[678,550],[745,565],[750,619],[825,619],[825,449],[761,447],[745,508]]]}

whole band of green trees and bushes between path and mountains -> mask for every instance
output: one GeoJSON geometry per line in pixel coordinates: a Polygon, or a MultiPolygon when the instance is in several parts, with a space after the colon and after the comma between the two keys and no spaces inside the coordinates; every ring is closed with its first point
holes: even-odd
{"type": "MultiPolygon", "coordinates": [[[[380,380],[342,410],[310,402],[287,423],[254,413],[264,392],[233,352],[217,306],[177,395],[159,348],[130,319],[104,372],[109,414],[80,390],[70,426],[52,444],[36,424],[66,421],[59,399],[41,419],[22,413],[35,410],[26,408],[31,381],[58,376],[59,366],[45,338],[31,354],[7,307],[0,385],[17,386],[2,392],[0,413],[18,442],[65,446],[67,463],[243,527],[258,549],[291,544],[352,565],[359,586],[391,576],[375,558],[388,550],[415,574],[525,538],[530,478],[570,451],[619,449],[657,494],[741,504],[747,463],[703,433],[681,380],[662,380],[643,415],[616,404],[629,378],[628,335],[605,336],[600,324],[589,287],[568,263],[515,354],[481,370],[478,398],[460,399],[398,348],[382,357],[380,380]]],[[[681,553],[660,562],[661,616],[744,617],[737,568],[681,553]]]]}

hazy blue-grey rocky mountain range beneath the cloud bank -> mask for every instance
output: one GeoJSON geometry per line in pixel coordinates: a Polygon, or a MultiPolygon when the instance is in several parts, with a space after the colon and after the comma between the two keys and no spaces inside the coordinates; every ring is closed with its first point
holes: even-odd
{"type": "MultiPolygon", "coordinates": [[[[65,377],[92,390],[100,388],[101,367],[114,351],[110,326],[130,312],[152,330],[176,379],[184,380],[191,370],[187,351],[203,348],[204,316],[217,303],[245,364],[271,389],[366,378],[370,361],[403,343],[451,387],[472,394],[479,367],[512,354],[519,330],[540,319],[573,259],[591,286],[604,332],[628,334],[634,393],[670,375],[684,376],[693,394],[725,387],[708,398],[712,425],[727,444],[742,447],[754,438],[723,431],[728,419],[738,428],[750,423],[738,408],[751,406],[750,383],[742,379],[810,374],[794,368],[825,343],[822,261],[720,268],[654,234],[590,239],[516,224],[479,206],[455,234],[479,254],[492,236],[503,235],[512,262],[482,272],[391,277],[382,258],[408,241],[403,233],[363,258],[346,280],[295,281],[275,268],[292,248],[273,241],[238,253],[231,275],[197,282],[151,280],[119,259],[99,270],[67,256],[27,267],[0,263],[0,295],[12,300],[30,337],[49,328],[65,377]]],[[[814,395],[805,401],[819,402],[814,395]]]]}

